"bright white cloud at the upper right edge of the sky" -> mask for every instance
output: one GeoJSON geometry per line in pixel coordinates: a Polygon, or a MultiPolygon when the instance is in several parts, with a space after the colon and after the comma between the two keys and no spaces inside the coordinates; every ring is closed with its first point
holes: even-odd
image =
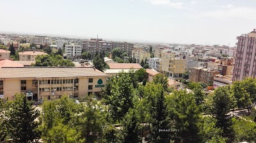
{"type": "Polygon", "coordinates": [[[203,17],[213,17],[218,19],[230,19],[230,18],[244,18],[249,20],[255,20],[256,9],[242,6],[234,6],[232,4],[227,4],[225,6],[220,6],[218,10],[207,11],[201,16],[203,17]]]}

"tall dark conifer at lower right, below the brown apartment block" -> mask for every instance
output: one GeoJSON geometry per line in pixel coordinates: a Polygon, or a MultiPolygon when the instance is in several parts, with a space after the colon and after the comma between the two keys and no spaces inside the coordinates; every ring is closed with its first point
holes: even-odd
{"type": "Polygon", "coordinates": [[[223,137],[232,139],[230,119],[227,119],[228,109],[232,108],[230,87],[218,87],[212,97],[211,115],[216,119],[216,127],[223,130],[223,137]]]}

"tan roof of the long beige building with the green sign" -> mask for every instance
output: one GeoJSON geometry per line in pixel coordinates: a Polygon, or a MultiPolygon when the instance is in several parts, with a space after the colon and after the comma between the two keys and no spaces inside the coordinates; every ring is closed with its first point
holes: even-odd
{"type": "Polygon", "coordinates": [[[24,67],[0,68],[0,79],[5,78],[52,78],[52,77],[97,77],[106,73],[92,67],[24,67]]]}

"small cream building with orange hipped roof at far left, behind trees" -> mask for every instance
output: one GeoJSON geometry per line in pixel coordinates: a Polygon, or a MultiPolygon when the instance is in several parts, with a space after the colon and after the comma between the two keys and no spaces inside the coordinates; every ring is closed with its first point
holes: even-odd
{"type": "Polygon", "coordinates": [[[41,50],[22,51],[22,52],[19,52],[19,60],[20,61],[36,61],[36,56],[38,55],[47,55],[47,53],[42,52],[41,50]]]}

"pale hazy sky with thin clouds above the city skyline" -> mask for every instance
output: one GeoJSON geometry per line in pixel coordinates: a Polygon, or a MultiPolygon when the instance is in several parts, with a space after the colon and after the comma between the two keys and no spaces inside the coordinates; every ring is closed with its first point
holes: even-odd
{"type": "Polygon", "coordinates": [[[256,28],[255,0],[0,0],[0,31],[236,45],[256,28]]]}

